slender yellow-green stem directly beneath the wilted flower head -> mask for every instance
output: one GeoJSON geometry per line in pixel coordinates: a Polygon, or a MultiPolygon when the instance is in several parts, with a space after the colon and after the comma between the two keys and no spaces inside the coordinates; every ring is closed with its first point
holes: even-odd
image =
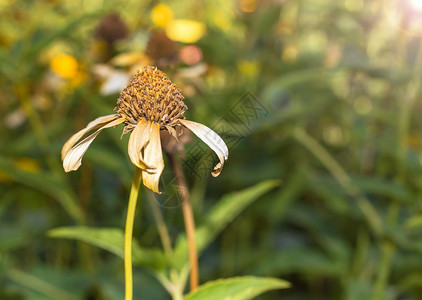
{"type": "Polygon", "coordinates": [[[133,175],[132,188],[130,190],[129,203],[126,216],[125,227],[125,300],[132,300],[133,298],[133,275],[132,275],[132,235],[133,223],[135,220],[136,201],[138,199],[139,186],[142,179],[142,171],[135,168],[133,175]]]}

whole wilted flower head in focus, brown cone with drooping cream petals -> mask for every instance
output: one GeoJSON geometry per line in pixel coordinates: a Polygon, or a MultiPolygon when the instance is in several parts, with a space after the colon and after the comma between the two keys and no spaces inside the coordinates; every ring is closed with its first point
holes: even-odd
{"type": "Polygon", "coordinates": [[[220,162],[211,174],[218,176],[228,158],[227,146],[207,126],[185,120],[183,114],[187,107],[183,99],[176,85],[156,67],[138,70],[121,92],[116,114],[95,119],[64,144],[61,153],[64,170],[70,172],[79,168],[89,145],[103,129],[124,123],[123,134],[131,132],[128,144],[130,160],[142,170],[144,185],[154,192],[159,193],[158,183],[164,169],[160,130],[168,131],[177,138],[176,127],[190,129],[217,154],[220,162]]]}

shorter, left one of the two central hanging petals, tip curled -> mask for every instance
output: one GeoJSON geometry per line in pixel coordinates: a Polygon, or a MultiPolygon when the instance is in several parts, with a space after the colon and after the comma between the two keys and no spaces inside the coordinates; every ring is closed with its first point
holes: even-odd
{"type": "Polygon", "coordinates": [[[145,147],[150,142],[151,123],[142,119],[136,124],[129,137],[128,153],[132,163],[142,170],[154,171],[144,160],[145,147]]]}

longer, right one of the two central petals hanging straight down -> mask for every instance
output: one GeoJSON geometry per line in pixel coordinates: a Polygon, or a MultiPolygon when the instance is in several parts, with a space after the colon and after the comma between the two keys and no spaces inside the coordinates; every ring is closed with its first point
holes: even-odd
{"type": "Polygon", "coordinates": [[[142,172],[142,180],[144,185],[155,193],[160,193],[158,184],[160,176],[164,169],[163,153],[161,150],[160,125],[155,122],[149,122],[150,141],[145,147],[144,161],[154,168],[154,172],[142,172]]]}

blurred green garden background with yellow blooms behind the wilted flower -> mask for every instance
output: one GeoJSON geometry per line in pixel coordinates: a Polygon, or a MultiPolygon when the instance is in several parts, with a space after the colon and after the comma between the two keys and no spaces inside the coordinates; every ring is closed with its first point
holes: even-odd
{"type": "MultiPolygon", "coordinates": [[[[220,133],[236,142],[218,178],[185,170],[197,222],[226,193],[282,181],[201,256],[201,282],[250,274],[292,283],[260,299],[422,299],[420,6],[1,0],[0,299],[122,297],[120,258],[46,232],[123,228],[127,136],[104,131],[71,174],[60,149],[111,114],[146,64],[183,90],[189,119],[226,122],[232,131],[220,133]],[[246,127],[223,118],[245,95],[268,112],[246,127]]],[[[174,237],[181,211],[160,199],[174,237]]],[[[135,236],[159,247],[144,200],[135,236]]],[[[135,294],[169,299],[135,271],[135,294]]]]}

